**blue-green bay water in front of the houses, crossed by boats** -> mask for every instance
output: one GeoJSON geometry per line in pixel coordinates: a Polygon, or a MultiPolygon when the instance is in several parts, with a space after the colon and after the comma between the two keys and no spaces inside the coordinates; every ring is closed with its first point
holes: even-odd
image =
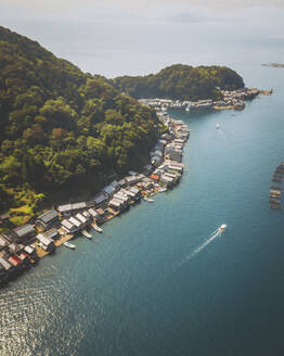
{"type": "Polygon", "coordinates": [[[191,128],[179,187],[1,290],[1,355],[283,355],[284,217],[268,194],[284,161],[284,71],[235,69],[273,96],[173,112],[191,128]]]}

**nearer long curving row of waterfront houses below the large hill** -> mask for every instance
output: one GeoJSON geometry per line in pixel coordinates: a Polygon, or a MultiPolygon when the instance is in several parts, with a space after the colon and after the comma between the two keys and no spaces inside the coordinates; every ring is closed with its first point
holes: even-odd
{"type": "MultiPolygon", "coordinates": [[[[54,253],[61,245],[76,249],[69,240],[77,237],[92,239],[94,233],[103,232],[101,226],[104,223],[131,205],[141,200],[153,203],[151,196],[179,183],[184,169],[183,148],[190,129],[164,111],[157,111],[157,115],[168,130],[160,135],[150,152],[149,164],[142,173],[130,170],[126,177],[105,186],[90,201],[55,206],[38,216],[35,224],[0,234],[0,285],[36,265],[39,258],[54,253]]],[[[4,220],[9,216],[1,218],[4,220]]]]}

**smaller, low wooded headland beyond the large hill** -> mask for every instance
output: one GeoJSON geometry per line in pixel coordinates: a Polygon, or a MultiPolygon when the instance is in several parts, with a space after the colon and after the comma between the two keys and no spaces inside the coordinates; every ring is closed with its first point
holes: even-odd
{"type": "Polygon", "coordinates": [[[197,66],[175,64],[147,76],[122,76],[109,82],[118,90],[141,98],[179,100],[218,99],[220,89],[240,89],[243,78],[224,66],[197,66]]]}

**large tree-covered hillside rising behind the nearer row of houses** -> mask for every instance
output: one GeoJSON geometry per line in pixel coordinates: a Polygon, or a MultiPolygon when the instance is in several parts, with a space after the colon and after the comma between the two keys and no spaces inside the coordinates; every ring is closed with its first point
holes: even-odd
{"type": "Polygon", "coordinates": [[[157,123],[102,77],[0,27],[0,211],[93,192],[141,167],[157,123]]]}

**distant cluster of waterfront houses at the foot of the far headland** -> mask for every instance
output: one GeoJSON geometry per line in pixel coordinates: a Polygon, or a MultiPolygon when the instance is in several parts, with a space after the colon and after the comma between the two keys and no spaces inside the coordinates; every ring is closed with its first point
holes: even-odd
{"type": "Polygon", "coordinates": [[[154,107],[157,112],[171,110],[199,111],[199,110],[243,110],[245,100],[256,98],[259,93],[270,94],[272,91],[261,91],[256,88],[243,88],[237,90],[220,90],[222,100],[211,99],[198,101],[181,101],[170,99],[140,99],[142,104],[154,107]]]}

